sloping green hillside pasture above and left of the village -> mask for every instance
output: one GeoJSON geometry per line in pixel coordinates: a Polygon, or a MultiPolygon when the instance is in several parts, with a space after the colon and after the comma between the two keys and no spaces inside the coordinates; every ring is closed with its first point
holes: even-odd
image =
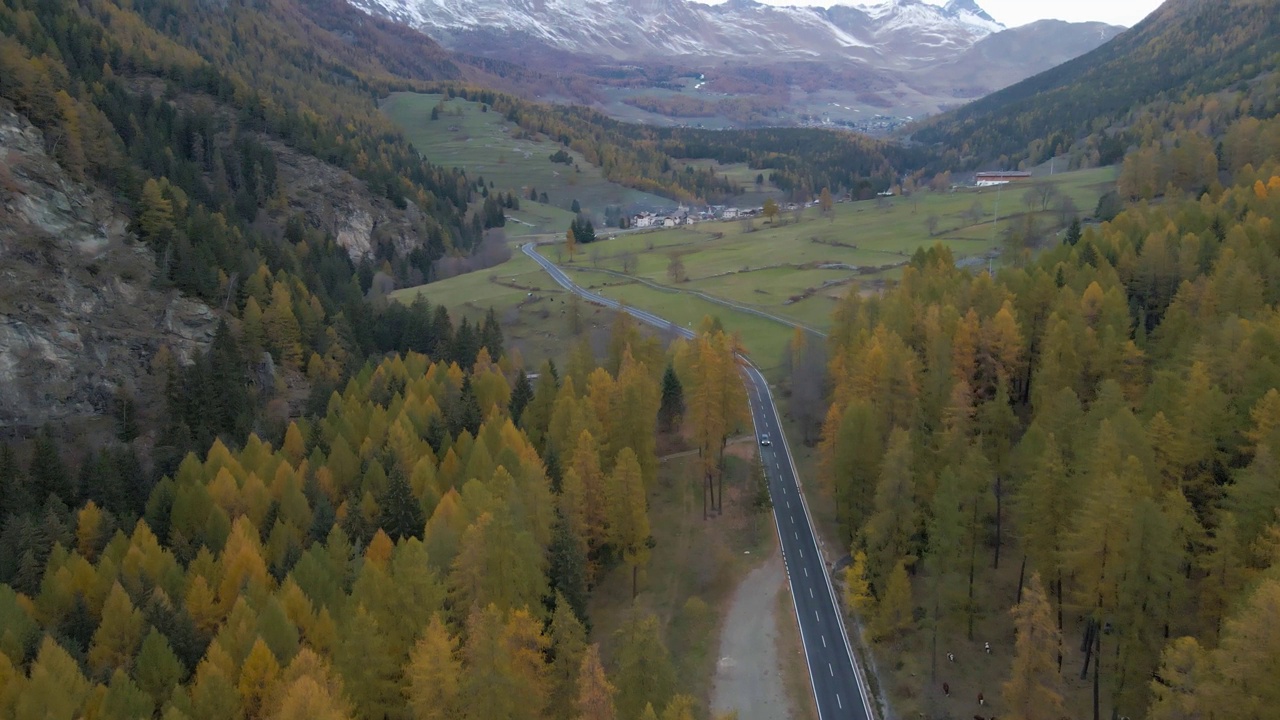
{"type": "Polygon", "coordinates": [[[393,94],[383,102],[383,113],[398,124],[428,160],[445,168],[466,170],[467,177],[484,177],[497,191],[516,191],[521,211],[513,217],[532,227],[508,223],[508,234],[563,232],[577,200],[584,211],[603,218],[604,208],[662,209],[676,204],[664,197],[630,190],[604,179],[599,168],[568,149],[575,165],[552,163],[549,156],[563,149],[547,138],[520,138],[521,131],[499,113],[486,113],[479,102],[440,95],[393,94]],[[431,109],[443,101],[439,119],[431,109]],[[545,205],[529,201],[530,188],[545,192],[545,205]]]}

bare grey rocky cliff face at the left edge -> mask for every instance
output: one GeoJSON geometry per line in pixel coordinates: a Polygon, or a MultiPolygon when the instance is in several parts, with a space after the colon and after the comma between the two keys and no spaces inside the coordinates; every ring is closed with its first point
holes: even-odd
{"type": "Polygon", "coordinates": [[[0,101],[0,428],[104,414],[160,347],[188,361],[207,345],[215,313],[154,275],[111,199],[0,101]]]}

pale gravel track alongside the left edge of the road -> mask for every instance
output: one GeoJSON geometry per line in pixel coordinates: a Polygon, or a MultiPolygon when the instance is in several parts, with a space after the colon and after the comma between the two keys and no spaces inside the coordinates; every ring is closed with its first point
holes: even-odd
{"type": "Polygon", "coordinates": [[[792,720],[778,656],[778,588],[786,582],[782,553],[742,580],[721,630],[712,710],[737,710],[739,720],[792,720]]]}

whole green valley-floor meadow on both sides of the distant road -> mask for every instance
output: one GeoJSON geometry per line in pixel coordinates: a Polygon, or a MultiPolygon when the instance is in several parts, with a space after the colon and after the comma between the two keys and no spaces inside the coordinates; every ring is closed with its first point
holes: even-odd
{"type": "MultiPolygon", "coordinates": [[[[742,169],[737,173],[742,182],[754,183],[742,169]]],[[[1079,213],[1088,215],[1115,177],[1115,168],[1101,168],[1039,178],[1028,186],[838,202],[826,217],[818,208],[805,208],[781,213],[772,223],[755,218],[626,232],[580,246],[572,259],[562,242],[545,242],[558,238],[557,233],[541,237],[540,251],[584,287],[676,324],[696,325],[704,315],[719,316],[739,333],[753,360],[769,370],[781,365],[795,324],[824,332],[840,297],[851,291],[877,292],[895,282],[916,249],[941,243],[961,265],[997,266],[1005,229],[1024,223],[1028,213],[1048,228],[1042,243],[1059,241],[1057,214],[1032,208],[1024,199],[1032,186],[1053,184],[1060,197],[1071,197],[1079,213]],[[673,258],[684,266],[680,279],[672,277],[673,258]]],[[[475,319],[493,306],[526,357],[556,357],[563,350],[558,338],[567,332],[561,314],[564,292],[518,250],[498,268],[399,291],[396,297],[410,301],[417,291],[457,316],[475,319]]],[[[590,313],[604,311],[590,307],[590,313]]]]}

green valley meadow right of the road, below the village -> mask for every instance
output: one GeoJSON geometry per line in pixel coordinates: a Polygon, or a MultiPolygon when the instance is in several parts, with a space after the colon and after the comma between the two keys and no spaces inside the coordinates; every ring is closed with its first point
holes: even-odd
{"type": "MultiPolygon", "coordinates": [[[[1115,169],[1061,173],[1036,182],[1053,184],[1087,214],[1115,182],[1115,169]]],[[[782,214],[774,224],[755,219],[751,229],[732,220],[627,233],[582,249],[571,264],[563,254],[558,261],[579,269],[577,279],[584,284],[607,287],[605,295],[673,322],[696,324],[704,314],[719,315],[730,331],[741,334],[756,363],[771,368],[781,357],[791,328],[708,302],[689,291],[820,331],[829,327],[841,296],[855,287],[876,290],[896,281],[922,246],[942,243],[969,266],[998,263],[1004,231],[1021,223],[1028,213],[1025,192],[1019,186],[918,192],[887,202],[837,204],[829,218],[809,208],[799,219],[792,213],[782,214]],[[928,231],[931,217],[937,222],[933,234],[928,231]],[[685,266],[685,282],[676,283],[668,275],[673,255],[685,266]],[[621,273],[628,261],[635,264],[635,278],[666,286],[667,291],[589,272],[621,273]]],[[[1053,215],[1041,213],[1041,222],[1056,223],[1053,215]]],[[[1051,233],[1046,242],[1055,238],[1051,233]]],[[[554,247],[544,252],[556,256],[554,247]]]]}

